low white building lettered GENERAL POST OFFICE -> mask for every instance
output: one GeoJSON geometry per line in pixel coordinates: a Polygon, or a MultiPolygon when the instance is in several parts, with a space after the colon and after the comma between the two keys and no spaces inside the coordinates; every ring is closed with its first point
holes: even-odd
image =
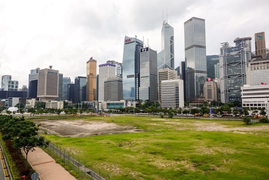
{"type": "Polygon", "coordinates": [[[269,85],[244,85],[241,87],[242,107],[267,109],[269,85]]]}

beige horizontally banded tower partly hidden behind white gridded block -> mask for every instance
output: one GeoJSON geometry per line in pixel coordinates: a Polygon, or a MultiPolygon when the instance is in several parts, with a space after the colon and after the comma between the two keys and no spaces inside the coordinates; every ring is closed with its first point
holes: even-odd
{"type": "Polygon", "coordinates": [[[177,71],[171,70],[168,67],[164,69],[158,69],[158,95],[159,95],[159,104],[161,104],[161,81],[163,80],[171,80],[177,78],[177,71]]]}

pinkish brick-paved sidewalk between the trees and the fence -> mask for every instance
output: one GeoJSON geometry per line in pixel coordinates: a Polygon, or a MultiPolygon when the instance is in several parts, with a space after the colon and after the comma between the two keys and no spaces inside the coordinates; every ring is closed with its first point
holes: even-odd
{"type": "MultiPolygon", "coordinates": [[[[40,180],[76,180],[60,164],[57,164],[46,152],[40,148],[34,148],[34,152],[28,153],[28,162],[39,174],[40,180]]],[[[25,157],[25,153],[23,152],[25,157]]]]}

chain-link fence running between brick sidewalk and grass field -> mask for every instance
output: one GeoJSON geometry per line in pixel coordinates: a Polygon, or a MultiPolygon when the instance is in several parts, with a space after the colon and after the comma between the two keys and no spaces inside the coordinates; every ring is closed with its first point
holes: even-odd
{"type": "MultiPolygon", "coordinates": [[[[93,166],[90,164],[90,168],[86,167],[86,161],[81,160],[78,156],[75,156],[74,153],[70,153],[66,151],[63,147],[59,146],[58,144],[54,144],[53,142],[49,143],[47,147],[49,154],[51,156],[56,156],[56,159],[60,159],[64,164],[66,164],[69,169],[73,171],[77,171],[81,177],[87,179],[95,179],[95,180],[105,180],[105,178],[101,177],[101,171],[98,168],[98,173],[93,171],[93,166]]],[[[108,180],[110,180],[110,176],[107,173],[108,180]]]]}

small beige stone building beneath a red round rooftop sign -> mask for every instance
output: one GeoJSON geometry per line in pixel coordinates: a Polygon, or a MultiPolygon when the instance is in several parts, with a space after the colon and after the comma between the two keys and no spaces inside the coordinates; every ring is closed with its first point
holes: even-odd
{"type": "Polygon", "coordinates": [[[214,81],[207,81],[204,84],[204,97],[206,101],[217,101],[218,88],[214,81]]]}

